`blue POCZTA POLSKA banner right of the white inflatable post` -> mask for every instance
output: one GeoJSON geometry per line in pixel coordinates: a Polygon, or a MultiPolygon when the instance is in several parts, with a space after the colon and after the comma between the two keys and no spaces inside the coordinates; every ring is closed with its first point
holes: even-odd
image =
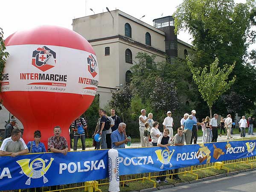
{"type": "Polygon", "coordinates": [[[119,174],[137,174],[177,169],[256,155],[256,140],[196,145],[118,149],[119,174]]]}

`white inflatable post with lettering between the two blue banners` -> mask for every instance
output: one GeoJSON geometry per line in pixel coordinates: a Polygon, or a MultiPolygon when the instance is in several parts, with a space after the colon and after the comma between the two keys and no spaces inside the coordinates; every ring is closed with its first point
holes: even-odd
{"type": "Polygon", "coordinates": [[[119,157],[118,151],[111,148],[108,150],[108,176],[109,192],[119,192],[119,157]]]}

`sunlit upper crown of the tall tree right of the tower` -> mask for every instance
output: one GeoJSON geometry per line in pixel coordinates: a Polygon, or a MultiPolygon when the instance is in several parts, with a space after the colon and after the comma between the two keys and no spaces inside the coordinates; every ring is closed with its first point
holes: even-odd
{"type": "Polygon", "coordinates": [[[212,63],[216,57],[223,64],[240,64],[247,54],[247,38],[251,37],[253,42],[255,37],[248,30],[253,25],[253,2],[184,0],[174,14],[175,32],[189,30],[194,39],[195,60],[200,66],[212,63]]]}

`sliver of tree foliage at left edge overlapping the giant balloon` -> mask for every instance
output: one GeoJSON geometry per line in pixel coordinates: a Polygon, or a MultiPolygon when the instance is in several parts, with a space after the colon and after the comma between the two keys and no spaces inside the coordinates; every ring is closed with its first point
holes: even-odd
{"type": "MultiPolygon", "coordinates": [[[[3,69],[6,64],[6,59],[9,57],[9,53],[6,52],[6,47],[4,44],[3,39],[3,29],[0,28],[0,81],[3,79],[3,69]]],[[[0,91],[1,91],[1,84],[0,84],[0,91]]],[[[2,101],[0,101],[0,104],[2,104],[2,101]]],[[[0,110],[2,109],[0,105],[0,110]]]]}

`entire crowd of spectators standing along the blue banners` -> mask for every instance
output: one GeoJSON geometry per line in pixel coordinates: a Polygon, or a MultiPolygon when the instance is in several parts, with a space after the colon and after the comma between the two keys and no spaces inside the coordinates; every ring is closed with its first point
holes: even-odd
{"type": "MultiPolygon", "coordinates": [[[[115,113],[115,109],[111,109],[111,116],[107,115],[107,112],[103,109],[99,109],[99,119],[93,134],[100,135],[100,140],[94,140],[95,149],[107,149],[107,148],[125,148],[125,143],[131,141],[126,135],[126,124],[121,122],[119,116],[115,113]]],[[[180,125],[177,130],[173,130],[173,118],[172,112],[168,111],[167,116],[164,119],[163,133],[158,129],[159,122],[153,120],[153,114],[148,113],[146,116],[146,110],[141,110],[141,115],[139,116],[139,131],[140,131],[140,143],[141,147],[159,146],[166,148],[169,151],[168,146],[171,145],[186,145],[196,144],[198,139],[198,126],[201,126],[203,131],[203,143],[217,142],[218,139],[218,128],[220,128],[220,137],[222,136],[222,131],[227,140],[230,140],[232,131],[232,119],[231,115],[228,114],[226,118],[221,117],[219,124],[217,123],[218,114],[214,114],[213,118],[210,119],[209,116],[202,119],[202,122],[198,122],[196,118],[196,111],[192,110],[191,114],[185,113],[183,118],[180,120],[180,125]],[[177,134],[174,134],[177,131],[177,134]]],[[[253,134],[253,122],[254,119],[249,117],[245,119],[245,116],[239,121],[239,128],[241,129],[241,137],[245,137],[245,128],[249,128],[248,134],[253,134]]],[[[41,152],[54,152],[66,155],[68,152],[68,144],[65,137],[61,136],[61,127],[55,126],[53,129],[54,136],[49,137],[47,150],[44,143],[41,143],[41,132],[39,130],[34,133],[34,140],[29,141],[27,144],[21,138],[21,131],[15,128],[17,121],[15,117],[12,116],[9,123],[5,126],[5,133],[3,143],[0,147],[0,156],[10,155],[11,157],[16,157],[17,155],[27,154],[27,153],[41,153],[41,152]]],[[[177,126],[176,126],[177,127],[177,126]]],[[[87,132],[87,123],[84,118],[80,116],[70,125],[70,141],[74,140],[73,150],[77,150],[78,140],[80,138],[82,143],[82,150],[85,150],[85,131],[87,132]]],[[[72,147],[72,141],[70,142],[70,147],[72,147]]],[[[172,170],[171,170],[171,173],[172,170]]],[[[178,169],[174,170],[174,178],[179,180],[178,169]]],[[[157,177],[157,183],[167,183],[166,171],[160,172],[159,177],[157,177]]],[[[125,186],[128,184],[125,183],[125,186]]],[[[58,186],[55,186],[58,189],[58,186]]],[[[36,190],[40,191],[40,189],[36,190]]]]}

